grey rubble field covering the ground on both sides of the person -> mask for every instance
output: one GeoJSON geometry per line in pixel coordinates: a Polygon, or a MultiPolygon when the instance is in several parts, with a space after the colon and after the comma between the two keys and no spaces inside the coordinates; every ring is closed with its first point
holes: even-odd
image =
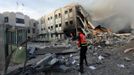
{"type": "MultiPolygon", "coordinates": [[[[130,43],[133,41],[133,36],[128,34],[114,34],[112,37],[110,41],[105,40],[100,43],[89,44],[87,51],[88,66],[84,65],[85,75],[113,75],[113,73],[114,75],[134,74],[132,70],[134,69],[134,53],[128,55],[130,51],[134,50],[133,43],[130,43]],[[112,43],[109,44],[108,42],[112,43]]],[[[93,42],[92,40],[90,41],[93,42]]],[[[51,47],[44,48],[44,51],[46,49],[64,49],[65,51],[60,50],[60,53],[57,53],[57,51],[54,53],[46,50],[48,53],[44,54],[43,59],[35,62],[35,64],[27,65],[25,69],[21,67],[12,72],[12,74],[47,75],[48,73],[48,75],[50,75],[49,73],[51,73],[51,75],[58,75],[56,73],[73,73],[77,71],[75,75],[78,75],[79,51],[76,46],[71,45],[70,47],[65,47],[63,45],[64,44],[59,46],[59,43],[56,43],[56,45],[53,43],[51,47]],[[72,53],[69,52],[68,49],[77,51],[72,53]]]]}

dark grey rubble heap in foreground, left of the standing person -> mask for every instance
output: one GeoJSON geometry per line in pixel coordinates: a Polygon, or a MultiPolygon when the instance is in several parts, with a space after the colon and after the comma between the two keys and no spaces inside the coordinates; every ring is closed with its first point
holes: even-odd
{"type": "Polygon", "coordinates": [[[67,72],[71,70],[76,70],[78,68],[78,56],[73,56],[72,54],[63,56],[56,54],[45,54],[44,58],[35,64],[27,65],[20,67],[19,69],[14,70],[8,75],[33,75],[39,72],[48,72],[48,71],[60,71],[67,72]]]}

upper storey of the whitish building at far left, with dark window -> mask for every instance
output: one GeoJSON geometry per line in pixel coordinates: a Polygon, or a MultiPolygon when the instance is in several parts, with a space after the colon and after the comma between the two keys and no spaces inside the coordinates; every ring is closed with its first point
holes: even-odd
{"type": "Polygon", "coordinates": [[[11,26],[27,27],[29,26],[30,18],[20,12],[4,12],[4,22],[11,26]]]}

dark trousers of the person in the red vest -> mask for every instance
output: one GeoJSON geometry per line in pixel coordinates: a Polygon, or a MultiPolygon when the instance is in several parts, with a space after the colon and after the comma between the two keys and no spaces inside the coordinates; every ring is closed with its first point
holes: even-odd
{"type": "Polygon", "coordinates": [[[81,46],[80,48],[80,72],[83,71],[83,62],[85,60],[85,64],[88,65],[87,58],[86,58],[87,46],[81,46]]]}

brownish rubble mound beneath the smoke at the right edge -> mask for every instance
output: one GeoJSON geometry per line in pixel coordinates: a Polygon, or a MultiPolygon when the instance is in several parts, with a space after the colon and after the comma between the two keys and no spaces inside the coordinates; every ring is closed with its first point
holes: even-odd
{"type": "Polygon", "coordinates": [[[112,36],[107,37],[103,36],[99,42],[96,42],[96,38],[92,39],[91,41],[94,43],[94,45],[97,46],[124,46],[125,44],[129,43],[132,39],[134,39],[134,36],[131,34],[116,34],[113,33],[112,36]]]}

